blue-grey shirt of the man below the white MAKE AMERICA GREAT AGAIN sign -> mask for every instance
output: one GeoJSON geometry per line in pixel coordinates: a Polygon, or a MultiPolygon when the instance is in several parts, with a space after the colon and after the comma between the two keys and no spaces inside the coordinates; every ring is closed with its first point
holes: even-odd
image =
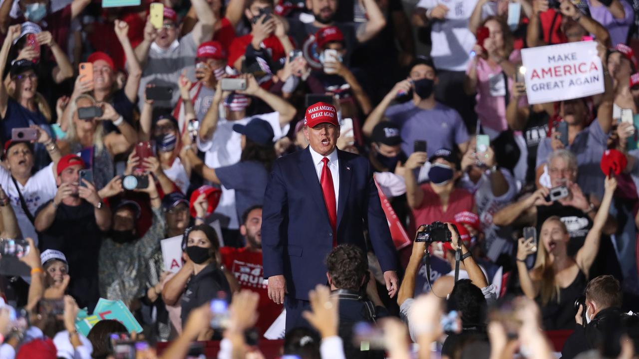
{"type": "MultiPolygon", "coordinates": [[[[569,149],[577,157],[578,176],[577,184],[583,193],[596,194],[597,197],[603,197],[604,192],[604,176],[601,171],[599,162],[604,151],[606,151],[606,142],[608,134],[604,134],[599,121],[594,119],[590,126],[581,130],[574,138],[573,144],[569,145],[569,149]]],[[[539,142],[537,147],[537,165],[546,164],[548,156],[552,153],[552,139],[546,138],[539,142]]]]}

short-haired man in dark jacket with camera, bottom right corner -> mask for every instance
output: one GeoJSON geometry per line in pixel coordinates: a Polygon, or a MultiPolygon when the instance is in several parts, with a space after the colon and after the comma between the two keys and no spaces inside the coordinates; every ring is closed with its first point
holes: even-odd
{"type": "Polygon", "coordinates": [[[601,275],[590,280],[585,297],[574,303],[577,310],[574,317],[576,325],[564,343],[562,358],[573,359],[584,351],[601,348],[606,333],[613,332],[624,316],[620,310],[621,302],[621,286],[612,275],[601,275]]]}

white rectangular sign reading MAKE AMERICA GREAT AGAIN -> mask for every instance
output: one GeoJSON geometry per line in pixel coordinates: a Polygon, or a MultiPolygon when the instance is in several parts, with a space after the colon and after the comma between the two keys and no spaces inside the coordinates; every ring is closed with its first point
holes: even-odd
{"type": "Polygon", "coordinates": [[[604,92],[603,66],[593,41],[521,50],[528,103],[571,100],[604,92]]]}

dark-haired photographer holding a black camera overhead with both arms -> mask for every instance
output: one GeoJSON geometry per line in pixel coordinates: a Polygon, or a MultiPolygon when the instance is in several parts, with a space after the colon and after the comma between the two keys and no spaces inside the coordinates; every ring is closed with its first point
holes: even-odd
{"type": "MultiPolygon", "coordinates": [[[[399,287],[399,294],[397,294],[397,304],[399,304],[399,310],[401,315],[406,318],[410,318],[410,312],[413,305],[413,293],[415,293],[415,277],[417,277],[417,270],[422,264],[422,259],[427,246],[436,241],[450,242],[450,247],[454,250],[460,250],[461,256],[459,257],[460,264],[463,263],[465,270],[468,273],[468,280],[470,282],[463,283],[460,288],[453,289],[450,294],[451,298],[463,298],[468,296],[469,298],[475,298],[475,300],[457,300],[458,310],[461,312],[462,328],[474,328],[475,326],[485,325],[484,319],[486,312],[483,313],[477,310],[478,308],[486,309],[486,299],[495,299],[495,286],[488,285],[488,280],[484,276],[481,268],[472,257],[472,254],[468,252],[468,248],[464,245],[463,241],[459,238],[458,230],[456,226],[450,223],[442,224],[441,222],[433,222],[430,225],[421,225],[415,236],[415,242],[413,243],[413,252],[410,256],[410,261],[406,267],[406,273],[404,273],[404,280],[401,287],[399,287]],[[473,285],[472,287],[470,285],[473,285]],[[456,290],[457,289],[457,290],[456,290]],[[477,291],[483,294],[483,297],[479,298],[477,291]],[[464,308],[463,303],[466,303],[468,307],[464,308]],[[472,310],[471,310],[472,307],[472,310]],[[481,322],[481,323],[480,323],[481,322]]],[[[435,293],[438,296],[443,296],[445,293],[435,293]]],[[[415,328],[410,321],[408,321],[408,329],[410,336],[415,340],[420,330],[424,328],[415,328]]],[[[474,329],[473,329],[474,330],[474,329]]]]}

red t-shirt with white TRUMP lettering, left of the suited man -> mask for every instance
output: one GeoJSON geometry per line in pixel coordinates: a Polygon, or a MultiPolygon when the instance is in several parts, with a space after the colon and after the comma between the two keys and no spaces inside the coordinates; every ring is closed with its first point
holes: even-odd
{"type": "Polygon", "coordinates": [[[262,252],[251,252],[247,248],[222,247],[220,254],[222,254],[224,266],[235,275],[240,287],[259,294],[259,317],[256,326],[263,334],[282,313],[282,305],[275,304],[268,298],[268,286],[262,267],[262,252]]]}

